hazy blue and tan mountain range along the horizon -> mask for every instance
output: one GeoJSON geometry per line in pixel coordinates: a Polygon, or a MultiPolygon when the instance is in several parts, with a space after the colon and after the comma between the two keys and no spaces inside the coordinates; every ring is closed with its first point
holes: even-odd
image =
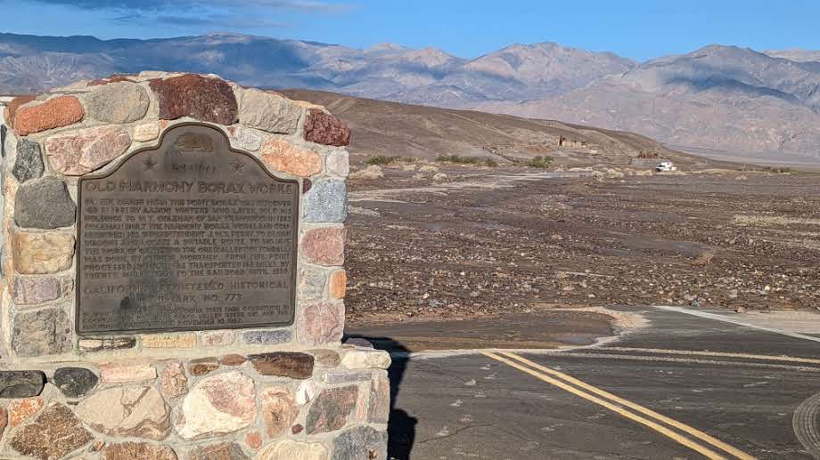
{"type": "Polygon", "coordinates": [[[632,61],[561,44],[513,44],[477,59],[436,48],[209,34],[151,40],[0,34],[0,93],[161,69],[242,85],[632,131],[671,145],[820,157],[820,52],[709,45],[632,61]]]}

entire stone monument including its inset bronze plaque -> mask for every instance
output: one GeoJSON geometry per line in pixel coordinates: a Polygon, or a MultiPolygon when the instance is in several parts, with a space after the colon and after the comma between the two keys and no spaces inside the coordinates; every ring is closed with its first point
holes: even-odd
{"type": "Polygon", "coordinates": [[[386,458],[343,345],[348,126],[143,72],[4,109],[0,457],[386,458]]]}

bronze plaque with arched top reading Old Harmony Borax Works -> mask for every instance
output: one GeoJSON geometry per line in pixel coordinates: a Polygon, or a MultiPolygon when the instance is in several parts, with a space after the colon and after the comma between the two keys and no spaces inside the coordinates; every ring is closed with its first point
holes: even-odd
{"type": "Polygon", "coordinates": [[[299,182],[207,125],[78,182],[77,332],[293,323],[299,182]]]}

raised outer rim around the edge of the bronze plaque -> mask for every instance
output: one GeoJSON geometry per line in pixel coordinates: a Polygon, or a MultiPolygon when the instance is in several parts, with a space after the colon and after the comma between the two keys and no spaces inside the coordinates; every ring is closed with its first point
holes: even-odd
{"type": "Polygon", "coordinates": [[[196,331],[212,331],[212,330],[225,330],[225,329],[251,329],[257,327],[291,327],[296,323],[296,303],[298,300],[297,295],[297,283],[299,282],[298,274],[299,274],[299,221],[301,218],[300,212],[300,202],[301,202],[301,195],[302,195],[302,187],[298,179],[283,179],[281,177],[277,177],[276,175],[272,174],[267,166],[262,163],[262,161],[254,156],[252,153],[242,150],[242,149],[234,149],[231,145],[231,138],[223,131],[221,128],[215,125],[208,125],[205,123],[196,123],[196,122],[184,122],[177,125],[171,125],[165,131],[160,133],[159,140],[153,146],[146,146],[140,149],[136,149],[133,152],[127,154],[124,157],[119,158],[119,164],[115,167],[111,168],[111,171],[104,173],[104,174],[86,174],[78,178],[77,180],[77,247],[75,249],[75,255],[77,259],[75,275],[74,275],[74,289],[76,290],[75,293],[75,304],[74,304],[74,332],[80,337],[96,337],[96,336],[105,336],[105,335],[129,335],[129,334],[165,334],[170,332],[196,332],[196,331]],[[296,231],[296,235],[293,238],[292,243],[292,250],[293,254],[296,254],[296,261],[293,264],[291,269],[291,305],[293,307],[293,311],[291,314],[291,319],[287,322],[278,322],[278,323],[256,323],[256,324],[242,324],[239,326],[230,326],[230,325],[223,325],[223,326],[208,326],[208,327],[163,327],[160,329],[111,329],[105,331],[82,331],[80,330],[80,295],[82,295],[82,286],[80,283],[80,269],[79,269],[79,257],[80,257],[80,244],[82,238],[80,238],[81,230],[82,230],[82,213],[80,212],[80,206],[82,206],[82,197],[83,197],[83,187],[82,184],[86,180],[98,180],[98,179],[105,179],[109,177],[111,174],[116,173],[119,171],[119,168],[122,165],[125,165],[126,162],[131,158],[135,157],[136,155],[143,153],[149,150],[159,150],[162,146],[162,143],[165,141],[166,136],[168,133],[171,133],[176,128],[183,128],[186,126],[198,126],[209,128],[211,130],[216,131],[219,135],[221,135],[225,139],[225,143],[228,146],[228,152],[244,155],[246,157],[250,157],[256,164],[262,168],[262,171],[265,172],[271,179],[275,182],[284,182],[284,183],[292,183],[296,186],[296,206],[293,213],[293,228],[296,231]]]}

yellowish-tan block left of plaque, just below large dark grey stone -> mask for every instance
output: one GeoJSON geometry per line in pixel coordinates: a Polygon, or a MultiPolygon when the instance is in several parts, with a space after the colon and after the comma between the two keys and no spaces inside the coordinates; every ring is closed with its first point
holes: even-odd
{"type": "Polygon", "coordinates": [[[74,235],[66,232],[12,233],[14,267],[20,273],[45,274],[68,270],[74,260],[74,235]]]}

